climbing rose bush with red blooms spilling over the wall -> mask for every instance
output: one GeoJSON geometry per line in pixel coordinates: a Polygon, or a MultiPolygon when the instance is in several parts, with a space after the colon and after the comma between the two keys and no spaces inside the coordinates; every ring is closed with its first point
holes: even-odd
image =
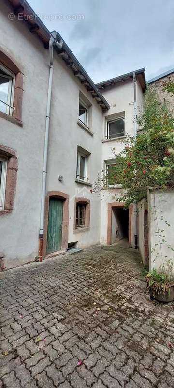
{"type": "MultiPolygon", "coordinates": [[[[118,200],[125,201],[126,207],[146,198],[148,187],[174,185],[174,117],[155,91],[147,89],[137,122],[143,131],[136,140],[127,137],[112,170],[112,181],[125,189],[118,200]]],[[[94,191],[101,181],[99,177],[94,191]]]]}

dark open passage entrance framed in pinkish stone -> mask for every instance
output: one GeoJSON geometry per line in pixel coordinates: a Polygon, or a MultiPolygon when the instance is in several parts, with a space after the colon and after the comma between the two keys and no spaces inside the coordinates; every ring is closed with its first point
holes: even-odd
{"type": "Polygon", "coordinates": [[[112,207],[112,234],[111,243],[121,239],[128,239],[129,232],[129,210],[119,207],[112,207]]]}

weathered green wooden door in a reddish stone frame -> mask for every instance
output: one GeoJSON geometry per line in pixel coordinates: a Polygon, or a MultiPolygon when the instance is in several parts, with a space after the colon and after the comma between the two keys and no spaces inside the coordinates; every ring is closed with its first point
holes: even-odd
{"type": "Polygon", "coordinates": [[[61,249],[63,201],[50,198],[46,253],[61,249]]]}

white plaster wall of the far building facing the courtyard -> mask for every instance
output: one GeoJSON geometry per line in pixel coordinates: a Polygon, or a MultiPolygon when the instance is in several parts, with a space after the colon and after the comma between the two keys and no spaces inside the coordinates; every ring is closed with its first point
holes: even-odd
{"type": "MultiPolygon", "coordinates": [[[[142,106],[143,92],[139,81],[136,82],[137,87],[137,107],[142,106]]],[[[125,111],[125,133],[133,136],[133,81],[120,82],[114,87],[108,87],[102,90],[103,96],[110,104],[110,109],[104,113],[102,139],[106,135],[106,118],[111,114],[125,111]]],[[[102,142],[102,169],[105,168],[105,160],[114,159],[115,155],[121,152],[124,148],[124,139],[116,139],[102,142]]],[[[101,243],[107,243],[107,204],[109,202],[116,202],[122,193],[120,188],[102,190],[101,202],[101,243]]],[[[131,216],[131,246],[134,246],[134,225],[135,225],[135,211],[133,210],[131,216]]]]}

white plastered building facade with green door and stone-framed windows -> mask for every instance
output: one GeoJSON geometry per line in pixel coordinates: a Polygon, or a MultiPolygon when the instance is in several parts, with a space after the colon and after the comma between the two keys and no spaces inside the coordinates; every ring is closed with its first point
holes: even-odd
{"type": "Polygon", "coordinates": [[[124,204],[118,210],[119,185],[108,182],[99,195],[93,188],[133,135],[145,69],[95,85],[27,2],[2,0],[0,21],[1,267],[113,243],[128,236],[128,226],[133,245],[133,213],[124,204]]]}

